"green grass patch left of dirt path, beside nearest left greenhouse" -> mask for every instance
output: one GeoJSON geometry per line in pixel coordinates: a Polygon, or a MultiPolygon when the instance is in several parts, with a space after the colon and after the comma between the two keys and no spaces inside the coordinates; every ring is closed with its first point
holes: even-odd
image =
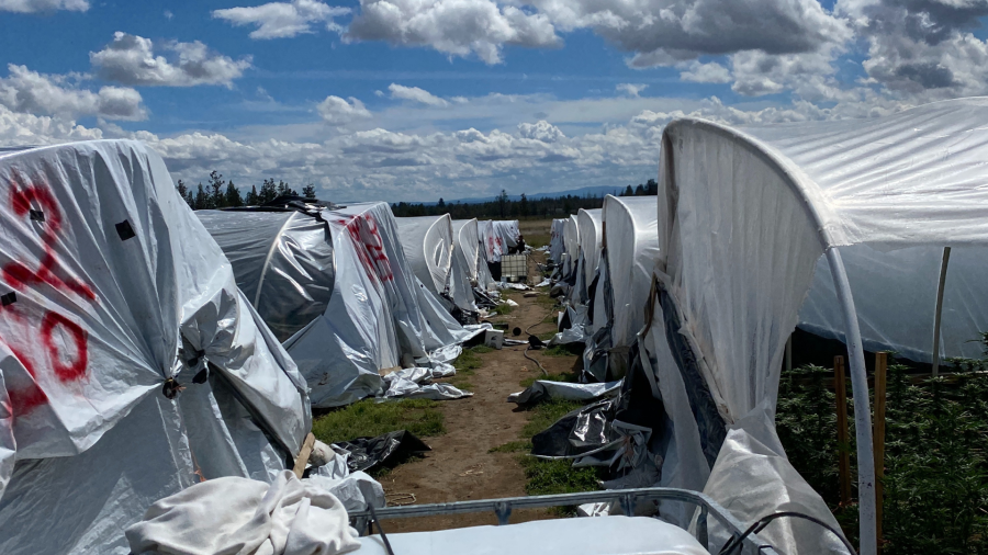
{"type": "Polygon", "coordinates": [[[408,430],[419,438],[441,435],[446,428],[438,405],[426,399],[388,403],[364,399],[317,417],[312,433],[325,443],[373,438],[395,430],[408,430]]]}

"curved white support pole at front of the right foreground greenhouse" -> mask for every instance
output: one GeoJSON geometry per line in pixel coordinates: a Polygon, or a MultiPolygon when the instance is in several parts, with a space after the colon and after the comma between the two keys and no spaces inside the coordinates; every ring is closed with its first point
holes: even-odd
{"type": "Polygon", "coordinates": [[[877,555],[875,528],[875,456],[872,443],[872,410],[868,403],[868,376],[865,373],[864,348],[857,312],[851,294],[851,283],[837,247],[827,249],[827,261],[837,288],[838,302],[844,313],[844,342],[851,367],[851,392],[854,397],[854,431],[857,439],[857,499],[861,555],[877,555]]]}

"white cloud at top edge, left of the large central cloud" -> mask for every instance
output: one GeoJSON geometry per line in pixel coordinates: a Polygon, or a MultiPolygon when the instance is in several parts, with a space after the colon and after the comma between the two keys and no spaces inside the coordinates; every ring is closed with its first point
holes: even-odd
{"type": "Polygon", "coordinates": [[[334,18],[350,13],[349,8],[327,5],[317,0],[292,0],[270,2],[252,8],[228,8],[214,10],[213,18],[233,25],[256,25],[250,38],[287,38],[313,33],[312,26],[325,23],[330,31],[340,31],[334,18]]]}

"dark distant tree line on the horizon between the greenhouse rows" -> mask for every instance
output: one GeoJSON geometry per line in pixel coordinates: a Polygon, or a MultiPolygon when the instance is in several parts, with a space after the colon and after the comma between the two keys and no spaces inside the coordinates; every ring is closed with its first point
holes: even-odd
{"type": "MultiPolygon", "coordinates": [[[[654,196],[659,194],[659,183],[650,179],[647,183],[637,188],[628,185],[622,192],[615,189],[618,196],[654,196]]],[[[497,199],[479,203],[448,203],[442,199],[436,204],[420,204],[400,202],[391,205],[391,211],[396,217],[438,216],[449,214],[453,219],[525,219],[562,217],[575,214],[577,209],[593,209],[604,206],[604,196],[562,195],[555,197],[528,199],[523,194],[518,200],[512,200],[505,191],[501,191],[497,199]]]]}

